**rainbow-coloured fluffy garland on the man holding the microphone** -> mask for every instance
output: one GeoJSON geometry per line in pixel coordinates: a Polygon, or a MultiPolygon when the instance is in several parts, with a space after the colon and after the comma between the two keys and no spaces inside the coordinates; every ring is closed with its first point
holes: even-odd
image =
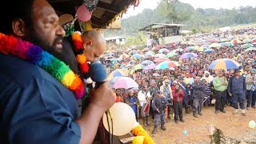
{"type": "Polygon", "coordinates": [[[55,58],[40,46],[23,41],[21,38],[14,38],[14,36],[0,33],[0,52],[2,54],[13,54],[18,58],[40,66],[54,78],[58,79],[66,88],[71,90],[75,98],[82,98],[85,93],[82,79],[74,74],[64,62],[55,58]]]}

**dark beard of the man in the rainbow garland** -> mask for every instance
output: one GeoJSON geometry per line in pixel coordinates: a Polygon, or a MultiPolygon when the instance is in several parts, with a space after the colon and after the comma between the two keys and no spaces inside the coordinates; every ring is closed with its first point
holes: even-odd
{"type": "Polygon", "coordinates": [[[27,39],[29,40],[29,42],[32,42],[34,45],[40,46],[42,50],[46,50],[50,54],[55,55],[62,52],[62,50],[57,50],[57,48],[55,47],[56,43],[59,40],[62,40],[62,37],[55,38],[53,45],[51,45],[49,42],[47,42],[46,38],[44,38],[40,34],[37,34],[36,31],[32,28],[27,39]]]}

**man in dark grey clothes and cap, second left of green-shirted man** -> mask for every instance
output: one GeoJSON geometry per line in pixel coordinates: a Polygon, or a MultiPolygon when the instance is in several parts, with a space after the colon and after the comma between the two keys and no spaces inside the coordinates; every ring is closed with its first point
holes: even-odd
{"type": "Polygon", "coordinates": [[[200,82],[200,77],[195,78],[193,83],[193,116],[198,118],[198,114],[202,115],[202,102],[204,98],[204,86],[200,82]],[[197,114],[198,112],[198,114],[197,114]]]}

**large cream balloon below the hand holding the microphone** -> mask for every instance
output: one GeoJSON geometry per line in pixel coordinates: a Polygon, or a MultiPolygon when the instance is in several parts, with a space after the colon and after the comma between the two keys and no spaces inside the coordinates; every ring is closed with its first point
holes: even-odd
{"type": "MultiPolygon", "coordinates": [[[[110,114],[113,119],[113,134],[116,136],[122,136],[128,134],[130,130],[134,128],[136,122],[134,110],[123,102],[116,102],[112,107],[110,107],[110,114]]],[[[112,134],[112,124],[110,120],[110,114],[108,114],[109,126],[107,124],[106,114],[103,115],[103,125],[106,130],[112,134]]]]}

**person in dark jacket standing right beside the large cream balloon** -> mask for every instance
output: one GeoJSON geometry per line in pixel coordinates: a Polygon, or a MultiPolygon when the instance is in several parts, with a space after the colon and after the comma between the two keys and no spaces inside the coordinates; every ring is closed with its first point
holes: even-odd
{"type": "Polygon", "coordinates": [[[138,98],[134,96],[134,90],[128,90],[128,97],[125,102],[134,110],[136,120],[138,121],[138,98]]]}

